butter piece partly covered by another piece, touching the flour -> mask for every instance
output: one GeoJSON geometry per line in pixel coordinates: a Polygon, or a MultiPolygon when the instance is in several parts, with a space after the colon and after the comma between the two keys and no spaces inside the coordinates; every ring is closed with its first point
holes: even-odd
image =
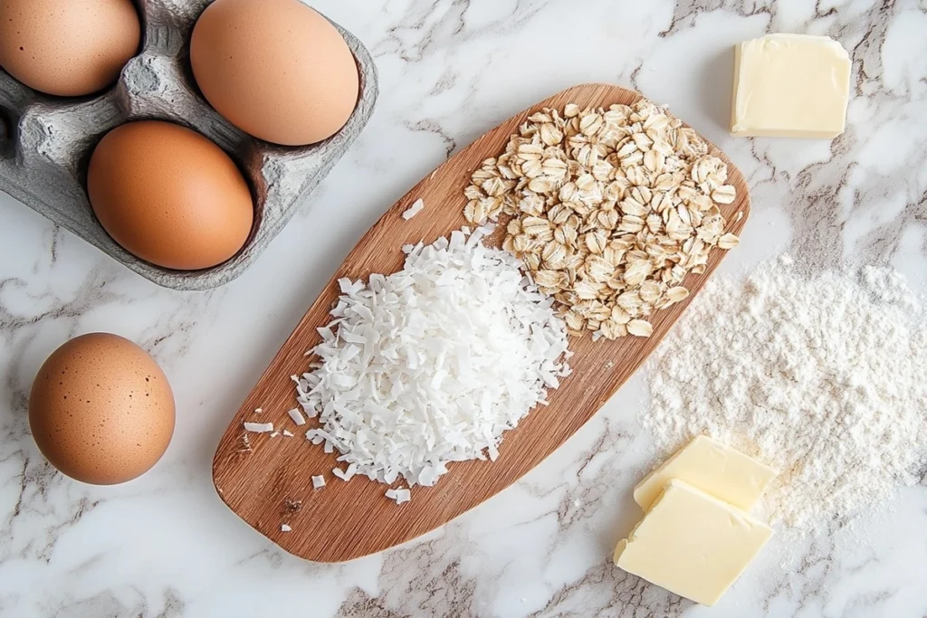
{"type": "Polygon", "coordinates": [[[634,487],[634,501],[648,511],[670,479],[678,478],[738,509],[750,511],[777,474],[774,468],[739,450],[698,435],[634,487]]]}

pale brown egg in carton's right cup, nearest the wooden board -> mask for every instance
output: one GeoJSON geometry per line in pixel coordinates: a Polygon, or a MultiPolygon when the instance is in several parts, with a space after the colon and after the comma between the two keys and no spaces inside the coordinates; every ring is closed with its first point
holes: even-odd
{"type": "Polygon", "coordinates": [[[216,0],[197,20],[190,62],[212,107],[274,144],[321,142],[357,105],[348,44],[298,0],[216,0]]]}

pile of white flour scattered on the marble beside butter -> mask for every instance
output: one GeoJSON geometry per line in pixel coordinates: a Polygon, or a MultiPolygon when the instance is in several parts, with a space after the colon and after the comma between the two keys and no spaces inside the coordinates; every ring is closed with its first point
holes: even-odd
{"type": "Polygon", "coordinates": [[[705,434],[779,468],[774,521],[850,522],[927,465],[924,318],[887,269],[716,278],[648,363],[641,423],[667,452],[705,434]]]}

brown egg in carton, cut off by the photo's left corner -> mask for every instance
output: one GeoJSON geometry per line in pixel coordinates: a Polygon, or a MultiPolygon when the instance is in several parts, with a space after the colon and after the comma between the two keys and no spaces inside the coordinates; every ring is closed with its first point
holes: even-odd
{"type": "Polygon", "coordinates": [[[141,30],[132,0],[3,0],[0,67],[49,95],[91,95],[119,79],[141,30]]]}

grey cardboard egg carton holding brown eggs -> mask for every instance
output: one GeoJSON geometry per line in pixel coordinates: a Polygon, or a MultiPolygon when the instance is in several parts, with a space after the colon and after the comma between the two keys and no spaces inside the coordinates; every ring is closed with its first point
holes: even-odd
{"type": "Polygon", "coordinates": [[[285,147],[249,136],[224,120],[199,94],[189,41],[211,0],[138,0],[145,32],[141,53],[101,95],[42,95],[0,70],[0,191],[77,234],[129,269],[164,287],[205,290],[235,279],[258,259],[300,202],[348,150],[374,111],[377,77],[370,52],[333,22],[361,76],[361,95],[348,123],[316,145],[285,147]],[[171,271],[135,258],[96,220],[86,193],[87,164],[109,130],[131,120],[168,120],[209,137],[245,174],[255,219],[234,258],[203,271],[171,271]]]}

